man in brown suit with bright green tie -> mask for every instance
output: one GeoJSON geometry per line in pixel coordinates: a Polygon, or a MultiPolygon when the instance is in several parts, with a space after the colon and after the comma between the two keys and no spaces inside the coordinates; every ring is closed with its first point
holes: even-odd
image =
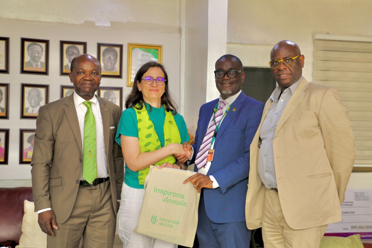
{"type": "Polygon", "coordinates": [[[74,58],[74,93],[42,106],[36,119],[32,191],[48,247],[78,247],[81,236],[84,247],[113,245],[124,179],[123,156],[114,142],[121,110],[94,95],[100,72],[96,58],[74,58]],[[85,180],[88,170],[94,176],[85,180]]]}

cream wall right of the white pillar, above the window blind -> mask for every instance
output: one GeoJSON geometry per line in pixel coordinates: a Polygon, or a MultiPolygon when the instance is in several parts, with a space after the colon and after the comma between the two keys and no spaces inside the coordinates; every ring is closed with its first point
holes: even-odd
{"type": "Polygon", "coordinates": [[[229,0],[227,42],[232,44],[228,51],[244,44],[238,57],[245,57],[243,64],[250,66],[256,64],[256,45],[267,45],[258,61],[268,67],[272,46],[289,39],[305,55],[303,75],[312,81],[312,34],[372,36],[371,10],[371,0],[229,0]]]}

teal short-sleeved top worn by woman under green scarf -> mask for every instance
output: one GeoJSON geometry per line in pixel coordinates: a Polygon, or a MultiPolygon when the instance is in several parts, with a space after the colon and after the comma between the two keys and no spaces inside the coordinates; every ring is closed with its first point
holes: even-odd
{"type": "MultiPolygon", "coordinates": [[[[150,105],[146,103],[146,109],[148,116],[154,123],[155,132],[159,137],[161,147],[164,146],[164,121],[165,112],[164,106],[161,108],[152,107],[150,111],[150,105]]],[[[181,144],[190,140],[189,133],[187,132],[186,123],[182,115],[177,113],[174,115],[177,128],[181,136],[181,144]]],[[[138,138],[138,123],[137,115],[133,108],[129,108],[123,111],[123,114],[119,121],[118,131],[116,132],[115,141],[121,146],[120,135],[131,136],[138,138]]],[[[138,171],[132,171],[125,164],[124,183],[129,187],[135,189],[143,189],[143,185],[138,183],[138,171]]]]}

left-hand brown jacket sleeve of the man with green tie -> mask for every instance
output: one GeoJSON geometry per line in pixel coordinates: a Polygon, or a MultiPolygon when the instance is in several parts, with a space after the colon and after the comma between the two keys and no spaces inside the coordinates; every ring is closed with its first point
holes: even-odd
{"type": "Polygon", "coordinates": [[[51,117],[45,106],[39,109],[31,159],[32,194],[35,212],[51,207],[49,199],[49,173],[54,152],[54,135],[51,117]]]}

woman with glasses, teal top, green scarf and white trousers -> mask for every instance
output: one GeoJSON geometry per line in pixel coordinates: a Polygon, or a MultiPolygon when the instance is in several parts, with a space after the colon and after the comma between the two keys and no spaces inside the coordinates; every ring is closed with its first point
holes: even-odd
{"type": "Polygon", "coordinates": [[[186,170],[190,154],[182,148],[189,141],[185,120],[170,97],[163,65],[147,62],[138,70],[131,93],[125,99],[115,141],[125,160],[124,183],[119,209],[119,237],[124,248],[173,248],[175,244],[154,239],[133,229],[138,224],[144,180],[150,165],[186,170]],[[173,154],[183,154],[176,162],[173,154]]]}

